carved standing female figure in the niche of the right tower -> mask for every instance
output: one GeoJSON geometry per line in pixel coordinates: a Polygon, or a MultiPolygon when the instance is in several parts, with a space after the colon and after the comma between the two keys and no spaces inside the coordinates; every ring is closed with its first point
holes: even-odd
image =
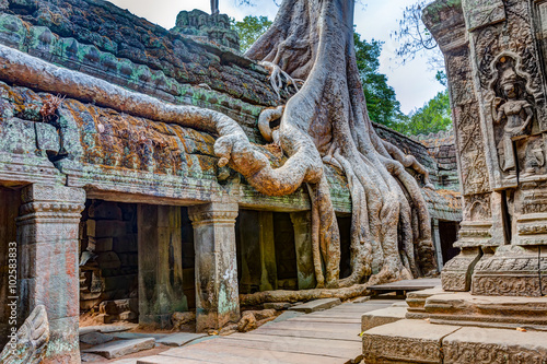
{"type": "Polygon", "coordinates": [[[515,71],[514,60],[502,57],[498,69],[500,77],[496,86],[496,97],[492,102],[493,121],[503,125],[500,151],[500,167],[511,177],[516,176],[516,156],[513,141],[529,133],[534,118],[533,105],[525,97],[525,80],[515,71]]]}

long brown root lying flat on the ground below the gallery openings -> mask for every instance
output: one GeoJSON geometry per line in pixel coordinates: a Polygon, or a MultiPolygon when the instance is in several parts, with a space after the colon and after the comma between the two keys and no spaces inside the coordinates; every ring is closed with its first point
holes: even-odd
{"type": "Polygon", "coordinates": [[[344,289],[315,289],[303,291],[265,291],[253,294],[241,294],[240,305],[258,306],[266,302],[306,302],[321,298],[350,300],[370,293],[370,284],[354,284],[344,289]]]}

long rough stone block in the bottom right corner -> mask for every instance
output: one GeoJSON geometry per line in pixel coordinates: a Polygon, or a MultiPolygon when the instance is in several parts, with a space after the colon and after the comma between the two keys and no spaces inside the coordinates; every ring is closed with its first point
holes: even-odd
{"type": "Polygon", "coordinates": [[[545,363],[547,332],[464,327],[443,339],[444,361],[456,363],[545,363]]]}

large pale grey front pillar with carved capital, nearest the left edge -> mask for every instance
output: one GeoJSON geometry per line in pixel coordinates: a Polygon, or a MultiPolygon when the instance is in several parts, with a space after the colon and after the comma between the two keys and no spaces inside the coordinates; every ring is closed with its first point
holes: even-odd
{"type": "Polygon", "coordinates": [[[22,191],[18,218],[20,325],[44,305],[50,339],[46,363],[80,363],[79,242],[85,191],[35,184],[22,191]]]}

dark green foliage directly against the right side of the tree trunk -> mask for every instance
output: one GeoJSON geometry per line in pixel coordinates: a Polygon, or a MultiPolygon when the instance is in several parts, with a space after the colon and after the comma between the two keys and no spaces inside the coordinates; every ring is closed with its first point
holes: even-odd
{"type": "Polygon", "coordinates": [[[353,42],[369,116],[372,121],[395,128],[405,116],[400,113],[395,90],[387,84],[387,77],[379,71],[382,42],[362,40],[358,33],[353,33],[353,42]]]}

